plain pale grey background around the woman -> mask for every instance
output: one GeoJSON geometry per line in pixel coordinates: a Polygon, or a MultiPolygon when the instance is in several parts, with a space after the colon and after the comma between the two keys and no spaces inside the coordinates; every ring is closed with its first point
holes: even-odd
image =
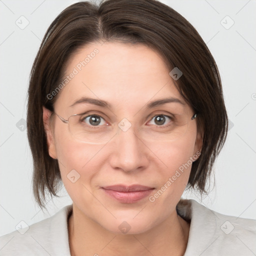
{"type": "MultiPolygon", "coordinates": [[[[62,188],[60,198],[48,200],[47,211],[35,204],[24,120],[29,72],[41,39],[57,14],[74,2],[0,0],[0,235],[15,230],[21,220],[30,225],[71,203],[62,188]]],[[[255,218],[256,1],[162,2],[183,15],[209,47],[219,67],[231,124],[215,165],[215,186],[212,177],[209,195],[201,203],[224,214],[255,218]]],[[[198,194],[183,196],[200,202],[198,194]]]]}

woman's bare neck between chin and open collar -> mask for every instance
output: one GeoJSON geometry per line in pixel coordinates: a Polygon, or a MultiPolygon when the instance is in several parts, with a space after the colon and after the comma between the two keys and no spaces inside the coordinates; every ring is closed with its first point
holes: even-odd
{"type": "Polygon", "coordinates": [[[159,225],[139,234],[116,234],[84,216],[73,204],[68,219],[71,256],[183,255],[189,223],[176,211],[159,225]]]}

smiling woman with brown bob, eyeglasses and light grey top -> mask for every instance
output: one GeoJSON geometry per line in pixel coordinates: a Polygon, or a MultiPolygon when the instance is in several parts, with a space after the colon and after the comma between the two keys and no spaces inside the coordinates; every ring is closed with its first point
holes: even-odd
{"type": "Polygon", "coordinates": [[[206,192],[227,114],[212,55],[170,7],[106,0],[62,11],[33,63],[27,132],[38,205],[61,182],[73,203],[2,236],[1,255],[256,251],[254,220],[181,199],[189,187],[206,192]]]}

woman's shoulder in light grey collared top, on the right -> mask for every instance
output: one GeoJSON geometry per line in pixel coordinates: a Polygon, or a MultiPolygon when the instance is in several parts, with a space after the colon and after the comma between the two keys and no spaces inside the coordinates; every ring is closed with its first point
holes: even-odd
{"type": "Polygon", "coordinates": [[[256,220],[221,214],[195,200],[177,207],[191,221],[185,256],[255,255],[256,220]]]}

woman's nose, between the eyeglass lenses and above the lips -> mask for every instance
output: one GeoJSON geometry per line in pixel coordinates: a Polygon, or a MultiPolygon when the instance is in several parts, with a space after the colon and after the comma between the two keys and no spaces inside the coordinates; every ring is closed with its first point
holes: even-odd
{"type": "Polygon", "coordinates": [[[146,168],[150,150],[135,134],[132,126],[126,131],[117,130],[116,135],[113,137],[111,148],[109,162],[112,168],[119,168],[125,172],[146,168]]]}

